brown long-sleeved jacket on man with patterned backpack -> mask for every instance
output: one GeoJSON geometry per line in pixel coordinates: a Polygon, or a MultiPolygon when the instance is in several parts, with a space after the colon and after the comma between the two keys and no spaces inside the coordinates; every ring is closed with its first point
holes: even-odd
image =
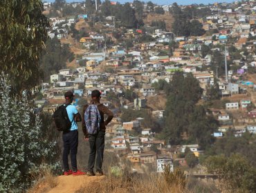
{"type": "MultiPolygon", "coordinates": [[[[105,105],[101,103],[94,103],[95,105],[98,105],[98,110],[100,112],[100,130],[106,130],[106,125],[109,124],[109,122],[113,119],[113,112],[109,110],[105,105]],[[107,119],[104,121],[104,114],[107,114],[107,119]]],[[[83,112],[82,112],[82,131],[84,132],[84,136],[88,136],[88,132],[86,130],[86,125],[84,121],[84,112],[89,107],[89,105],[84,105],[83,112]]]]}

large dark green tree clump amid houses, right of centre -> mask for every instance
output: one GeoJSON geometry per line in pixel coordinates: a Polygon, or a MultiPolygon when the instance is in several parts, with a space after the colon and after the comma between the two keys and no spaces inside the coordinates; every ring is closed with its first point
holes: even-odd
{"type": "Polygon", "coordinates": [[[217,128],[217,121],[207,116],[202,106],[196,106],[201,99],[202,89],[199,82],[187,74],[176,72],[170,82],[162,132],[164,139],[172,144],[180,144],[184,139],[199,143],[202,147],[213,143],[212,132],[217,128]]]}

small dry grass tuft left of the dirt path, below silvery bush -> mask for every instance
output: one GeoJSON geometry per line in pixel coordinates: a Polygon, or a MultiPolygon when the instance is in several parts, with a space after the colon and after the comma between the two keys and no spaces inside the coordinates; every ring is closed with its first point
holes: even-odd
{"type": "Polygon", "coordinates": [[[28,193],[44,193],[57,186],[57,179],[50,169],[42,171],[41,175],[35,178],[37,183],[28,190],[28,193]]]}

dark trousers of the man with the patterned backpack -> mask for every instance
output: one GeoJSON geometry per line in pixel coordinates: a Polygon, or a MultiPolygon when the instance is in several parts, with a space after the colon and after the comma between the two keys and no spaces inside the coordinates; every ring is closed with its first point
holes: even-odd
{"type": "Polygon", "coordinates": [[[103,152],[104,152],[104,139],[105,131],[100,130],[97,134],[89,134],[90,154],[88,161],[88,170],[93,171],[95,156],[96,158],[96,171],[102,172],[103,152]]]}

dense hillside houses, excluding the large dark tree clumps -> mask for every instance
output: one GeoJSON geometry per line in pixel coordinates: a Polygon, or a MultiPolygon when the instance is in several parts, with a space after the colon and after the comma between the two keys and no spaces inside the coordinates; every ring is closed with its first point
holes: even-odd
{"type": "MultiPolygon", "coordinates": [[[[219,99],[208,105],[205,112],[219,123],[211,133],[214,139],[221,139],[230,130],[236,137],[246,132],[256,133],[255,1],[194,7],[142,4],[143,12],[153,16],[173,17],[178,12],[174,9],[205,10],[204,17],[193,15],[190,19],[191,23],[199,23],[201,35],[192,35],[194,32],[187,35],[177,29],[174,32],[175,27],[167,29],[167,23],[160,26],[164,19],[125,28],[113,15],[89,14],[86,2],[66,3],[81,11],[66,17],[52,17],[53,3],[44,3],[51,23],[48,37],[68,45],[75,58],[65,68],[48,74],[49,79],[42,83],[42,96],[35,101],[38,111],[53,113],[68,90],[75,93],[75,105],[81,108],[92,90],[100,90],[102,103],[115,112],[114,121],[107,128],[107,151],[128,159],[138,173],[145,168],[163,172],[166,164],[171,165],[170,170],[175,166],[192,167],[193,163],[187,163],[188,159],[181,154],[190,151],[198,159],[205,147],[199,143],[173,144],[159,137],[161,124],[158,130],[143,124],[145,119],[163,122],[167,100],[159,87],[172,83],[174,74],[183,73],[184,77],[192,74],[198,81],[202,89],[198,103],[209,104],[219,99]],[[153,26],[154,22],[159,27],[153,26]],[[150,116],[122,119],[122,114],[129,110],[145,110],[150,116]]],[[[105,1],[96,5],[96,10],[104,13],[106,2],[116,5],[105,1]]],[[[137,4],[138,1],[128,3],[135,10],[137,4]]]]}

